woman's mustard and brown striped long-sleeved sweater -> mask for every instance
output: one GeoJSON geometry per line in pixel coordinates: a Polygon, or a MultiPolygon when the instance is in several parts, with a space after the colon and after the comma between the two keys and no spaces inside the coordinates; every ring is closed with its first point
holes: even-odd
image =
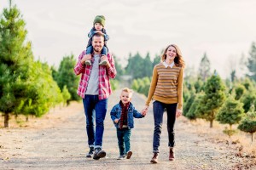
{"type": "Polygon", "coordinates": [[[163,63],[154,66],[146,105],[149,105],[152,99],[165,104],[177,103],[177,109],[182,109],[183,67],[173,65],[172,68],[166,68],[163,63]]]}

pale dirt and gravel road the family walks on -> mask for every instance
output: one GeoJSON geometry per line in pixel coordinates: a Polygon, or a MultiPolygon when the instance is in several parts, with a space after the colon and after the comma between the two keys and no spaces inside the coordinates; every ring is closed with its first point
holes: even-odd
{"type": "MultiPolygon", "coordinates": [[[[145,98],[134,94],[132,103],[138,111],[145,98]]],[[[119,102],[119,91],[109,98],[108,110],[119,102]]],[[[152,108],[143,119],[135,120],[131,132],[130,160],[119,156],[115,127],[109,111],[105,121],[103,149],[106,158],[99,161],[85,158],[88,152],[82,103],[69,106],[68,112],[48,119],[47,127],[0,128],[0,169],[244,169],[245,160],[235,156],[234,147],[207,139],[211,135],[198,133],[185,118],[176,124],[176,161],[168,161],[166,122],[161,134],[158,164],[149,161],[152,154],[154,122],[152,108]],[[59,117],[58,117],[59,116],[59,117]],[[57,118],[56,118],[57,117],[57,118]],[[56,121],[57,120],[57,121],[56,121]]],[[[166,121],[166,117],[165,121],[166,121]]],[[[211,133],[211,132],[210,132],[211,133]]],[[[256,169],[255,167],[249,167],[256,169]]]]}

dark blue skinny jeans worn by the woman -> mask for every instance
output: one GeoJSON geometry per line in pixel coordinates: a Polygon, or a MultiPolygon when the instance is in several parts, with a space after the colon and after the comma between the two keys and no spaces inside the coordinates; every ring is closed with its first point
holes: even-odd
{"type": "Polygon", "coordinates": [[[164,104],[160,101],[154,101],[153,103],[153,114],[154,114],[154,137],[153,137],[153,152],[159,153],[160,146],[160,134],[163,123],[164,112],[167,112],[167,131],[168,131],[168,140],[169,147],[174,147],[175,138],[174,138],[174,124],[176,121],[176,110],[177,104],[164,104]]]}

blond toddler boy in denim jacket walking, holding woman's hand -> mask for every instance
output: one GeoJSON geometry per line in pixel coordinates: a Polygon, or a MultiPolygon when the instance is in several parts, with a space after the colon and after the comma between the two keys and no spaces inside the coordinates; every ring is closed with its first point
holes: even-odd
{"type": "Polygon", "coordinates": [[[119,157],[118,160],[131,158],[132,151],[130,148],[131,128],[133,128],[133,117],[143,118],[145,111],[139,113],[131,104],[132,91],[129,88],[123,88],[119,104],[114,105],[110,112],[113,124],[116,127],[117,138],[119,141],[119,157]]]}

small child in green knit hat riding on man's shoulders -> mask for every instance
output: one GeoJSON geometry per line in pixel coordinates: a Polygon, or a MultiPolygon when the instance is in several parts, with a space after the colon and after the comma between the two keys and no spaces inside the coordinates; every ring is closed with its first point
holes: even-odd
{"type": "MultiPolygon", "coordinates": [[[[107,41],[109,40],[109,37],[104,26],[105,26],[105,17],[103,15],[97,15],[93,21],[93,27],[90,29],[90,32],[88,33],[88,37],[90,39],[86,47],[86,54],[92,54],[93,52],[91,41],[94,34],[96,34],[97,32],[102,32],[102,34],[104,35],[104,47],[102,48],[102,54],[107,55],[108,53],[107,41]]],[[[84,64],[91,65],[91,61],[86,60],[84,64]]],[[[101,60],[99,62],[99,65],[107,65],[107,61],[101,60]]]]}

